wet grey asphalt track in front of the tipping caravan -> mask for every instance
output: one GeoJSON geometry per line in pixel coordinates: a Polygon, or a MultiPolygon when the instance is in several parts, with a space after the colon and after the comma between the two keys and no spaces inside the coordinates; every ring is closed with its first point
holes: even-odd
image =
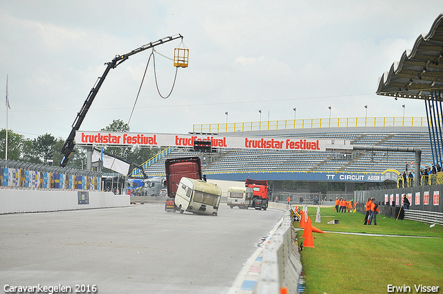
{"type": "Polygon", "coordinates": [[[0,293],[10,293],[11,286],[228,293],[282,214],[224,204],[217,217],[199,216],[165,212],[161,203],[2,214],[0,293]]]}

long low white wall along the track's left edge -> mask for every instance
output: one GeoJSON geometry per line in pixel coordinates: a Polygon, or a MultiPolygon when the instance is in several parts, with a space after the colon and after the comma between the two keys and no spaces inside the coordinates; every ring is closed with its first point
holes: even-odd
{"type": "Polygon", "coordinates": [[[129,206],[129,195],[102,191],[0,189],[0,214],[129,206]]]}

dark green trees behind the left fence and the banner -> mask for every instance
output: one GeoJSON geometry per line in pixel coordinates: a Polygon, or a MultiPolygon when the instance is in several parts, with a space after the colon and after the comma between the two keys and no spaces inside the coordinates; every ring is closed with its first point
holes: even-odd
{"type": "MultiPolygon", "coordinates": [[[[113,120],[110,125],[100,129],[100,131],[120,131],[129,132],[129,125],[122,120],[113,120]]],[[[64,145],[64,139],[55,138],[51,134],[40,135],[37,138],[29,139],[24,135],[8,130],[8,160],[24,161],[26,163],[48,164],[48,160],[53,160],[53,165],[62,162],[63,154],[60,153],[64,145]]],[[[6,129],[0,131],[0,158],[5,159],[6,149],[6,129]]],[[[107,147],[103,149],[109,154],[114,154],[131,163],[142,165],[146,160],[159,153],[159,148],[133,147],[107,147]]],[[[75,152],[69,158],[66,167],[82,167],[86,160],[86,149],[76,145],[75,152]]],[[[107,172],[106,170],[104,172],[107,172]]]]}

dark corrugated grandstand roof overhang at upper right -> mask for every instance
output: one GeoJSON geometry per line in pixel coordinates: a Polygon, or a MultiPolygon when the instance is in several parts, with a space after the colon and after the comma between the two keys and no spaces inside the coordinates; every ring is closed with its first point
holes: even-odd
{"type": "Polygon", "coordinates": [[[399,62],[379,77],[378,95],[428,99],[443,91],[443,13],[427,35],[420,35],[412,50],[405,50],[399,62]]]}

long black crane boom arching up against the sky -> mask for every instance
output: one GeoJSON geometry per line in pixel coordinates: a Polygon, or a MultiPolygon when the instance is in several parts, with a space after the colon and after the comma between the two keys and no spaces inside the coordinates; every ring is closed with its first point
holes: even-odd
{"type": "Polygon", "coordinates": [[[164,37],[163,39],[159,39],[156,42],[150,42],[149,44],[146,44],[146,45],[143,45],[139,48],[136,48],[136,49],[132,50],[131,52],[126,53],[124,55],[116,55],[116,57],[114,59],[112,59],[110,62],[105,63],[105,64],[107,64],[105,72],[103,73],[103,75],[101,77],[98,77],[98,82],[96,82],[96,85],[91,89],[86,100],[84,100],[83,106],[80,109],[80,111],[77,113],[77,118],[75,118],[75,120],[72,124],[71,133],[69,134],[68,138],[66,139],[66,142],[64,143],[64,145],[62,147],[61,152],[64,156],[63,156],[62,162],[60,163],[61,167],[65,167],[66,163],[68,163],[69,157],[71,156],[71,154],[74,151],[75,131],[78,131],[78,129],[80,129],[80,125],[82,125],[84,117],[88,113],[89,107],[91,107],[91,104],[92,104],[94,98],[96,98],[98,90],[100,90],[100,87],[102,86],[103,82],[105,81],[105,78],[108,75],[109,71],[112,68],[116,68],[119,64],[121,64],[122,62],[127,60],[129,58],[129,56],[131,56],[131,55],[134,55],[136,53],[140,53],[140,52],[147,50],[149,48],[153,48],[157,45],[164,44],[166,42],[170,42],[174,39],[179,39],[179,38],[183,39],[183,36],[178,34],[178,35],[174,35],[174,36],[170,36],[170,37],[164,37]]]}

